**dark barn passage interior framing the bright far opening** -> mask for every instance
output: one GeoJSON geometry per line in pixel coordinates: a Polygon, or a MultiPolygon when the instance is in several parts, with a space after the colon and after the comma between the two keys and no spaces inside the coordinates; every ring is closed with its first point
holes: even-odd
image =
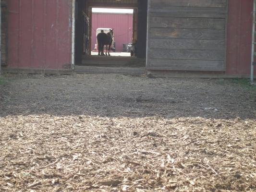
{"type": "MultiPolygon", "coordinates": [[[[147,0],[76,0],[75,5],[75,71],[84,72],[85,67],[146,66],[147,0]],[[131,56],[92,55],[92,8],[133,9],[132,41],[136,54],[131,56]]],[[[110,53],[111,54],[111,53],[110,53]]]]}

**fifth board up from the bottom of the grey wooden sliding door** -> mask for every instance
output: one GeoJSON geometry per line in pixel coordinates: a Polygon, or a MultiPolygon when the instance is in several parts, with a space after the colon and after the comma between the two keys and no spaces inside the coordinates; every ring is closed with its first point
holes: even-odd
{"type": "Polygon", "coordinates": [[[225,19],[152,17],[151,27],[185,29],[225,29],[225,19]]]}

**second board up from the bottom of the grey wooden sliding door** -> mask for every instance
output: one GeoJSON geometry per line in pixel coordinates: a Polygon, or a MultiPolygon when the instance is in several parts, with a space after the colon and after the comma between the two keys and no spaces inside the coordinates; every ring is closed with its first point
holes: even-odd
{"type": "Polygon", "coordinates": [[[224,60],[223,50],[156,49],[149,50],[150,59],[224,60]]]}

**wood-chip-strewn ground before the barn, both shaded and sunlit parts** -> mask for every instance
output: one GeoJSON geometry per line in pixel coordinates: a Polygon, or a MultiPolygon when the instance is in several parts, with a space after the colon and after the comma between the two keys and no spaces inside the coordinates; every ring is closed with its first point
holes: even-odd
{"type": "Polygon", "coordinates": [[[256,92],[232,80],[7,76],[0,191],[256,191],[256,92]]]}

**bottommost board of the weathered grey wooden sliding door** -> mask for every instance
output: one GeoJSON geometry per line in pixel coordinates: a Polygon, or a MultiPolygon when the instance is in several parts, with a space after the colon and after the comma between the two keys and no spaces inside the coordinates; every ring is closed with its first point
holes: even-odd
{"type": "Polygon", "coordinates": [[[147,69],[184,71],[224,71],[223,60],[158,60],[151,59],[147,69]]]}

